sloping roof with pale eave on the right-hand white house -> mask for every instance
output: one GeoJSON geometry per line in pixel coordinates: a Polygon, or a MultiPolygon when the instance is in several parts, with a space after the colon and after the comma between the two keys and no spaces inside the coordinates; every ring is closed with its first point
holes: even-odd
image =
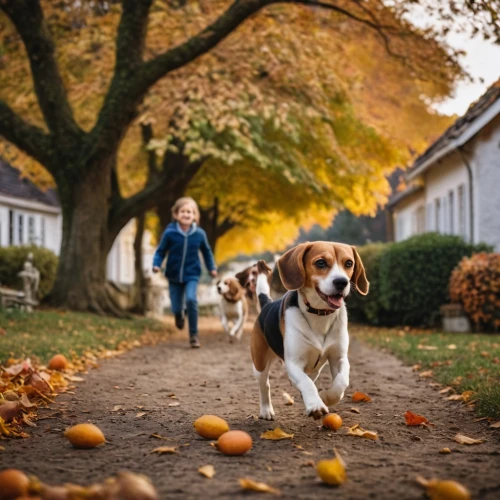
{"type": "Polygon", "coordinates": [[[406,173],[407,178],[415,178],[436,161],[465,144],[499,113],[500,79],[415,160],[406,173]]]}

